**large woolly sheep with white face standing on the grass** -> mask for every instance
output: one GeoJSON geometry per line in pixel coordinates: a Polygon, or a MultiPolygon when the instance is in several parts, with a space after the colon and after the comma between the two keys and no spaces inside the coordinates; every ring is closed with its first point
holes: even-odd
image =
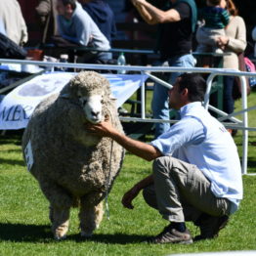
{"type": "Polygon", "coordinates": [[[50,202],[56,239],[67,234],[71,207],[79,207],[83,237],[90,237],[103,219],[103,199],[122,166],[124,149],[109,138],[90,134],[85,123],[98,123],[106,116],[123,133],[107,79],[82,71],[60,94],[35,108],[23,133],[23,157],[30,144],[29,171],[50,202]]]}

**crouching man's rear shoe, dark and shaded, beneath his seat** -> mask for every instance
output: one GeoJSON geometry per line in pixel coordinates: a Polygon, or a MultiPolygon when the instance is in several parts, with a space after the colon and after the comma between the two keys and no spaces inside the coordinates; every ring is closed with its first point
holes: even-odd
{"type": "Polygon", "coordinates": [[[194,223],[200,228],[200,235],[196,235],[193,241],[211,239],[219,235],[220,230],[224,229],[229,221],[229,216],[214,217],[208,214],[203,214],[199,220],[194,223]]]}

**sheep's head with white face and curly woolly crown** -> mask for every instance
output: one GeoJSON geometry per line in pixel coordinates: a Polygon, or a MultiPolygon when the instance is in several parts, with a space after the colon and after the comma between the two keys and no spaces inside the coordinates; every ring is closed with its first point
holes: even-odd
{"type": "Polygon", "coordinates": [[[86,119],[91,123],[103,120],[103,105],[110,98],[110,86],[105,77],[94,71],[82,71],[73,77],[62,94],[78,100],[86,119]]]}

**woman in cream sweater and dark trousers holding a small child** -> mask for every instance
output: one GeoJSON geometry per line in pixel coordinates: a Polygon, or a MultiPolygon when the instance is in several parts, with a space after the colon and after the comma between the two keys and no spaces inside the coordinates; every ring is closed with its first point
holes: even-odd
{"type": "MultiPolygon", "coordinates": [[[[223,0],[222,7],[230,13],[230,22],[226,27],[226,35],[216,38],[218,45],[229,55],[223,57],[223,67],[239,69],[238,54],[243,53],[246,48],[246,26],[241,17],[238,16],[238,10],[233,0],[223,0]]],[[[224,76],[224,99],[223,109],[227,113],[234,112],[235,100],[233,89],[235,76],[224,76]]]]}

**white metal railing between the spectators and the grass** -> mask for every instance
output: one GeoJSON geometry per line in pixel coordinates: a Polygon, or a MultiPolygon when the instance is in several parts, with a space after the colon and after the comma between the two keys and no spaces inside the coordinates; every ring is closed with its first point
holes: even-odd
{"type": "MultiPolygon", "coordinates": [[[[126,71],[136,71],[142,74],[148,74],[149,78],[153,81],[162,84],[167,88],[172,88],[172,85],[157,78],[152,75],[150,72],[195,72],[195,73],[209,73],[210,75],[207,78],[207,90],[204,98],[204,107],[206,109],[211,109],[218,114],[222,115],[219,118],[220,121],[225,119],[229,119],[233,121],[225,122],[224,125],[228,128],[234,128],[238,130],[242,130],[242,174],[247,174],[247,152],[248,152],[248,131],[256,131],[255,127],[248,127],[248,115],[247,112],[249,110],[256,109],[255,107],[247,108],[247,95],[246,95],[246,80],[245,77],[255,76],[256,73],[251,72],[241,72],[235,69],[227,69],[227,68],[202,68],[202,67],[171,67],[171,66],[135,66],[135,65],[109,65],[109,64],[66,64],[66,63],[46,63],[46,62],[33,62],[33,61],[20,61],[20,60],[6,60],[0,59],[0,64],[34,64],[39,66],[45,66],[46,70],[53,70],[54,67],[68,67],[74,69],[95,69],[95,70],[126,70],[126,71]],[[234,112],[232,114],[227,114],[226,112],[209,105],[209,97],[210,91],[212,87],[213,79],[218,75],[232,75],[238,76],[241,82],[241,103],[242,110],[238,112],[234,112]],[[235,118],[236,115],[241,114],[242,120],[235,118]]],[[[145,91],[146,86],[142,84],[141,86],[141,118],[139,117],[120,117],[122,121],[133,121],[133,122],[170,122],[175,123],[178,120],[161,120],[161,119],[152,119],[146,118],[146,108],[145,108],[145,91]]],[[[2,93],[3,90],[0,91],[2,93]]]]}

